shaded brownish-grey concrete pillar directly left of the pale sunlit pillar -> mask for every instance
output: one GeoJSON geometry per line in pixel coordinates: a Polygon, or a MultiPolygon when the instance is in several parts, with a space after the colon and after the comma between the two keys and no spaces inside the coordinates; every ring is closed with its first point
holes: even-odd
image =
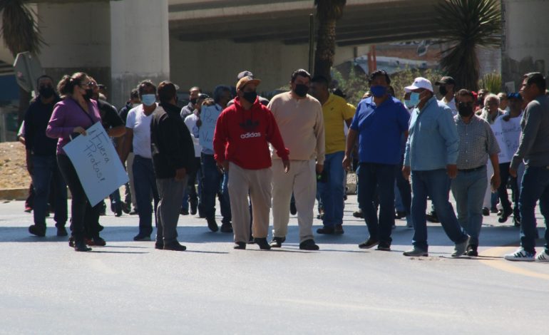
{"type": "Polygon", "coordinates": [[[39,59],[54,81],[65,74],[86,72],[111,83],[111,22],[108,2],[41,3],[39,26],[47,45],[39,59]]]}

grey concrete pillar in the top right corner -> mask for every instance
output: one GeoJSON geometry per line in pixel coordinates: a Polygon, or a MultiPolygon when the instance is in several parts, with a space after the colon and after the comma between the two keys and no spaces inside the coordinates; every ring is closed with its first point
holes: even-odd
{"type": "MultiPolygon", "coordinates": [[[[503,0],[503,83],[518,91],[523,75],[549,76],[549,0],[503,0]]],[[[510,90],[510,88],[509,88],[510,90]]]]}

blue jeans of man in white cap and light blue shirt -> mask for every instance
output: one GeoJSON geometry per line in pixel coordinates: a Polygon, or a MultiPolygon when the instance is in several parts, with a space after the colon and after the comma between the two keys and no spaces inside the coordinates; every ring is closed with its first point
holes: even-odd
{"type": "Polygon", "coordinates": [[[427,244],[427,220],[425,211],[427,209],[427,195],[431,197],[436,207],[436,214],[441,220],[444,232],[454,243],[461,243],[467,239],[467,235],[459,226],[456,213],[448,201],[450,189],[450,177],[446,175],[445,169],[429,171],[412,171],[412,204],[411,216],[414,221],[414,247],[428,251],[427,244]]]}

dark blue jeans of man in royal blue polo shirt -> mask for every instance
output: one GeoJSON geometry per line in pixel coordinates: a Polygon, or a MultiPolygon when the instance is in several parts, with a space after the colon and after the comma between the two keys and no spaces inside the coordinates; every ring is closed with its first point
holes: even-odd
{"type": "Polygon", "coordinates": [[[394,225],[394,170],[396,165],[360,163],[359,207],[364,212],[371,239],[391,244],[394,225]],[[377,191],[377,192],[376,192],[377,191]],[[379,198],[379,220],[375,197],[379,198]]]}

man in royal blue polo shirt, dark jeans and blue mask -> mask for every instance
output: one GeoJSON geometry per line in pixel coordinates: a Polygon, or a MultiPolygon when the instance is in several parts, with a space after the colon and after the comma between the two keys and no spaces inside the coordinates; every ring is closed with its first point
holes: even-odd
{"type": "Polygon", "coordinates": [[[408,129],[409,113],[402,103],[387,92],[391,79],[385,71],[375,71],[369,78],[372,96],[361,100],[354,115],[343,166],[349,169],[351,154],[359,137],[359,207],[364,211],[369,239],[361,249],[378,245],[378,250],[391,250],[394,225],[395,170],[401,161],[401,135],[408,129]],[[379,220],[374,196],[379,195],[379,220]]]}

